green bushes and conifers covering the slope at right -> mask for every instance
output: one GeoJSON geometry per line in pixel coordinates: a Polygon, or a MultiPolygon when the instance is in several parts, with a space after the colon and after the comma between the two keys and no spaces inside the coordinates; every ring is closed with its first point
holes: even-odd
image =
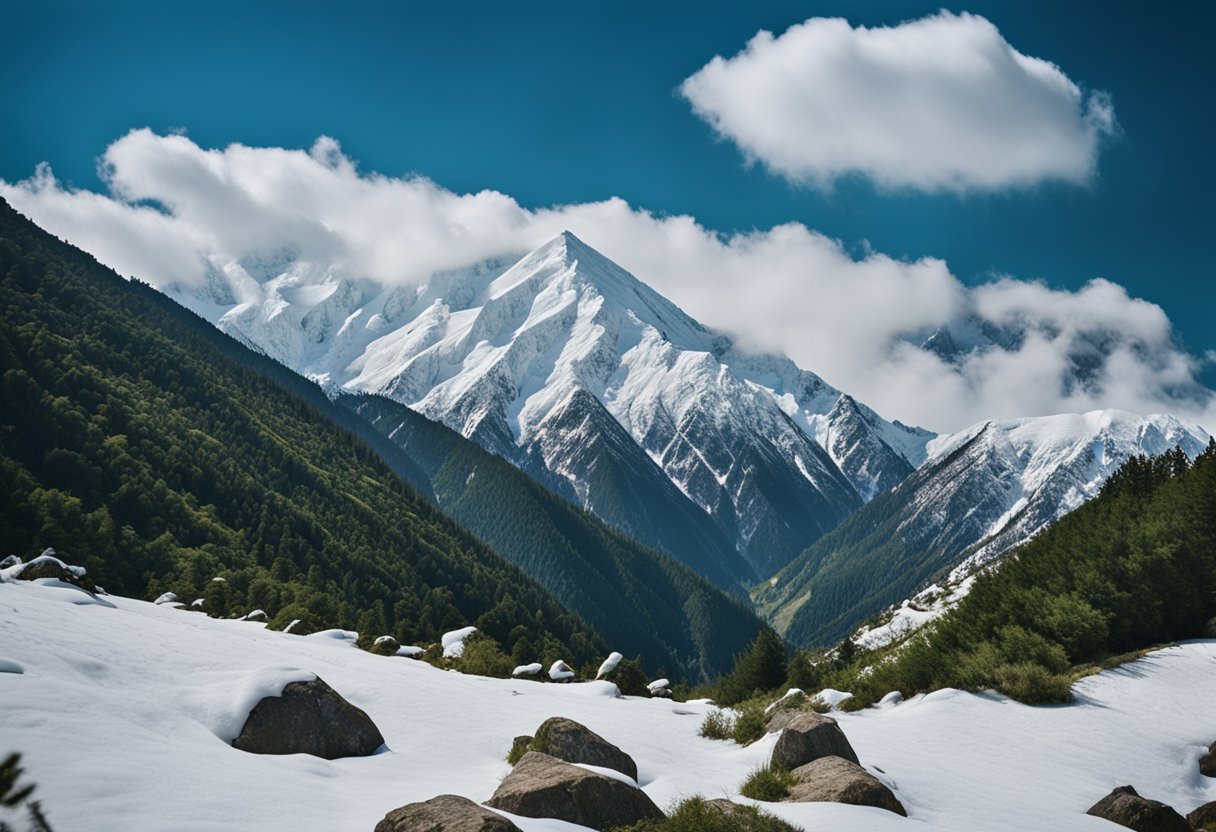
{"type": "Polygon", "coordinates": [[[1128,460],[936,625],[888,660],[858,656],[831,682],[858,703],[939,687],[1066,702],[1077,665],[1200,636],[1212,615],[1216,440],[1193,463],[1181,451],[1128,460]]]}

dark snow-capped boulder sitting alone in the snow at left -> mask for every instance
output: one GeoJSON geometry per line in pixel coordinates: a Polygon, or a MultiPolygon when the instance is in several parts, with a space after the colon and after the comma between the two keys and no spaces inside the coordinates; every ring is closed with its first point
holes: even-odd
{"type": "Polygon", "coordinates": [[[333,760],[368,757],[384,744],[362,710],[321,679],[289,682],[249,712],[232,744],[253,754],[311,754],[333,760]]]}

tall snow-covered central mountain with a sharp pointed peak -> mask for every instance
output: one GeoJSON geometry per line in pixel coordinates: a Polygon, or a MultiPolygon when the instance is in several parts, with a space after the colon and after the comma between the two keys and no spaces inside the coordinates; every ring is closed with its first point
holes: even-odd
{"type": "Polygon", "coordinates": [[[422,286],[288,257],[175,297],[332,390],[444,422],[720,586],[784,566],[933,437],[744,353],[569,232],[422,286]]]}

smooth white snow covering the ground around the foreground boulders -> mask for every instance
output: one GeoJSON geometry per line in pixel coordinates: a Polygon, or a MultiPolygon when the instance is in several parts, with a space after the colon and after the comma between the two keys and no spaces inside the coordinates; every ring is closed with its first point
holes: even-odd
{"type": "MultiPolygon", "coordinates": [[[[440,793],[485,800],[516,735],[563,715],[632,754],[659,804],[737,797],[771,748],[697,736],[708,703],[615,698],[608,682],[547,685],[437,670],[321,637],[272,633],[63,585],[0,584],[0,754],[19,751],[56,832],[359,830],[440,793]],[[232,708],[259,684],[316,674],[365,709],[388,749],[326,761],[231,748],[232,708]],[[225,730],[226,729],[226,730],[225,730]]],[[[1071,707],[939,691],[839,714],[908,819],[773,804],[807,830],[1115,830],[1085,810],[1132,783],[1187,813],[1216,799],[1197,760],[1216,731],[1216,641],[1159,651],[1077,685],[1071,707]]],[[[525,832],[575,830],[517,819],[525,832]]]]}

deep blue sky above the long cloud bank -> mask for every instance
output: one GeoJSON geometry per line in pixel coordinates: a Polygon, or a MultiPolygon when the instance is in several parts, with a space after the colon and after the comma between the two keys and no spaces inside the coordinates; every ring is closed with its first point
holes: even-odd
{"type": "MultiPolygon", "coordinates": [[[[362,170],[496,189],[529,207],[620,196],[731,231],[798,220],[897,257],[1077,287],[1094,276],[1216,349],[1216,4],[997,2],[1019,51],[1114,96],[1124,135],[1091,187],[957,197],[800,189],[714,139],[675,89],[765,28],[894,24],[939,2],[461,4],[0,0],[0,176],[39,162],[101,190],[131,128],[204,147],[338,139],[362,170]]],[[[1211,381],[1209,373],[1209,381],[1211,381]]]]}

